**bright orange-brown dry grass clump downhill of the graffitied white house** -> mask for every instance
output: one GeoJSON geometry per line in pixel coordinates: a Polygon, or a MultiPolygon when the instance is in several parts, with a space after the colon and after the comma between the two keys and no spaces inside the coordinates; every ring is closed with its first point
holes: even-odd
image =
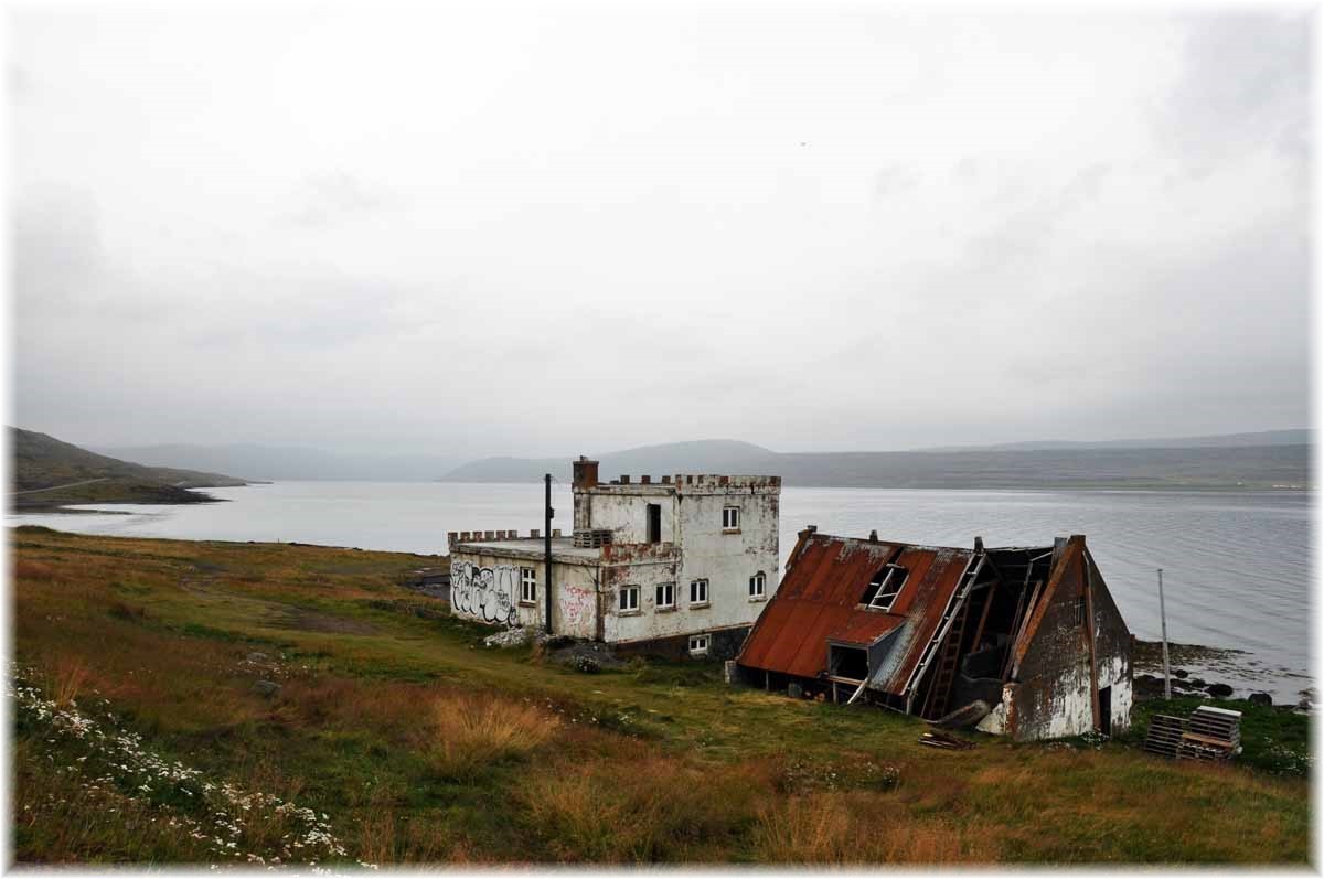
{"type": "Polygon", "coordinates": [[[428,719],[428,759],[448,778],[470,778],[486,766],[522,760],[561,728],[553,714],[491,695],[436,696],[428,719]]]}

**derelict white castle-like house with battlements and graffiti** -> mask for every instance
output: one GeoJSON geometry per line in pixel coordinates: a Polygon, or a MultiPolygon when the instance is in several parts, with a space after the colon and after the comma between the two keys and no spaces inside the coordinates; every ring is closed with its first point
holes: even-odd
{"type": "Polygon", "coordinates": [[[777,585],[780,477],[624,475],[573,462],[575,527],[449,532],[451,613],[661,655],[735,657],[777,585]]]}

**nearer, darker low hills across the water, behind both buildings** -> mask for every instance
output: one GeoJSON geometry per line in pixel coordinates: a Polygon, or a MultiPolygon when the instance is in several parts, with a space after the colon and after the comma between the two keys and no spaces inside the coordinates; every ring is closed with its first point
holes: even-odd
{"type": "MultiPolygon", "coordinates": [[[[775,474],[788,486],[880,488],[1275,488],[1307,487],[1309,432],[1238,434],[1121,443],[1019,443],[923,451],[777,453],[732,440],[645,446],[593,455],[604,481],[677,473],[775,474]],[[1295,434],[1301,442],[1284,442],[1295,434]]],[[[532,482],[551,473],[568,481],[571,455],[485,458],[448,473],[445,482],[532,482]]]]}

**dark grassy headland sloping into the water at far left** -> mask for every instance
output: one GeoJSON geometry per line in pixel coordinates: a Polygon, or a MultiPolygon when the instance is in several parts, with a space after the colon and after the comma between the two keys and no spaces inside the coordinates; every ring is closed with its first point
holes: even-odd
{"type": "Polygon", "coordinates": [[[11,428],[15,455],[15,491],[101,479],[91,485],[56,488],[13,498],[17,508],[49,508],[66,503],[197,503],[205,495],[187,488],[242,486],[242,479],[214,473],[144,467],[79,449],[33,430],[11,428]]]}

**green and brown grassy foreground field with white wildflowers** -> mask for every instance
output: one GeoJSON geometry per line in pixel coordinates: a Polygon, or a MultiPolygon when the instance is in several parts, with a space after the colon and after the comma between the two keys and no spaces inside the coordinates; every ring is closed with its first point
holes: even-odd
{"type": "MultiPolygon", "coordinates": [[[[20,862],[1309,858],[1305,760],[945,752],[911,717],[714,665],[580,674],[397,585],[436,557],[11,539],[20,862]]],[[[1282,739],[1263,752],[1303,748],[1300,719],[1256,723],[1282,739]]]]}

